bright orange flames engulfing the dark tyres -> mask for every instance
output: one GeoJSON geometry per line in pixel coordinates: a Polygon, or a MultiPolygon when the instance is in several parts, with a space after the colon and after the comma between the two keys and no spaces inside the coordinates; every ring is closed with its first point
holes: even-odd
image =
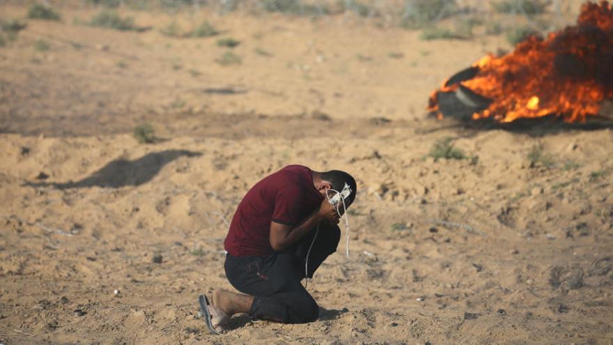
{"type": "MultiPolygon", "coordinates": [[[[598,115],[605,98],[613,98],[613,8],[608,1],[582,5],[577,25],[550,33],[545,40],[529,37],[502,57],[488,54],[473,63],[479,72],[460,82],[492,100],[472,118],[511,122],[518,118],[560,116],[566,122],[598,115]]],[[[428,109],[439,112],[438,92],[428,109]]]]}

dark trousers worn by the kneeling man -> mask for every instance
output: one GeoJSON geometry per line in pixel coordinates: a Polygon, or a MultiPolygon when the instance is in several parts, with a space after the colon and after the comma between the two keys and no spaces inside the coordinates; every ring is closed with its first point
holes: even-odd
{"type": "MultiPolygon", "coordinates": [[[[319,316],[317,302],[304,289],[304,263],[316,231],[285,252],[274,252],[267,257],[232,256],[226,254],[226,277],[242,293],[254,296],[249,316],[254,319],[281,323],[307,323],[319,316]]],[[[341,239],[338,226],[320,226],[309,254],[308,277],[323,261],[336,252],[341,239]]]]}

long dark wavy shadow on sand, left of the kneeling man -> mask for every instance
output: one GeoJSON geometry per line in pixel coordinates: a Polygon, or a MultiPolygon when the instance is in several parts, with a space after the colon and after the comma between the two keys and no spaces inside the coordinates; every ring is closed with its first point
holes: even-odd
{"type": "Polygon", "coordinates": [[[102,169],[95,171],[90,176],[77,182],[68,181],[66,183],[39,182],[33,183],[26,181],[24,185],[31,187],[55,187],[65,190],[69,188],[82,187],[124,187],[126,185],[142,185],[151,181],[164,165],[176,160],[177,158],[198,157],[201,153],[187,150],[167,150],[155,153],[148,153],[137,160],[118,159],[109,162],[102,169]]]}

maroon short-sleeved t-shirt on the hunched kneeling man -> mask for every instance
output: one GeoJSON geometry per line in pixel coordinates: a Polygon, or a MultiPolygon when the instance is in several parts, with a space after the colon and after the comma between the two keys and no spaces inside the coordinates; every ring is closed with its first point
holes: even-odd
{"type": "Polygon", "coordinates": [[[269,256],[270,222],[297,226],[324,197],[313,186],[311,169],[288,165],[256,183],[242,198],[224,241],[233,256],[269,256]]]}

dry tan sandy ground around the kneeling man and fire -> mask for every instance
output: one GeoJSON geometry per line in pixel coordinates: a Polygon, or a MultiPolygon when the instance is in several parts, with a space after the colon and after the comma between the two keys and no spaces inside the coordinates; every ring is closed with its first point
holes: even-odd
{"type": "Polygon", "coordinates": [[[1,343],[613,344],[611,127],[426,116],[430,91],[509,49],[502,36],[180,17],[241,41],[242,63],[220,66],[217,38],[94,29],[72,24],[93,12],[62,13],[0,48],[1,343]],[[155,144],[131,134],[145,122],[155,144]],[[424,158],[445,137],[475,158],[424,158]],[[235,207],[296,163],[345,169],[359,188],[350,258],[341,243],[309,283],[320,320],[239,315],[208,335],[196,298],[231,289],[222,241],[235,207]]]}

